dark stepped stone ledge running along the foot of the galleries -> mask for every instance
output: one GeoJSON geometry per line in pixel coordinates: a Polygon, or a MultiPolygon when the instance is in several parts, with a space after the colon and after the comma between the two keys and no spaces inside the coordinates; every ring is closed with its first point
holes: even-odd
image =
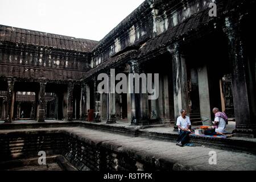
{"type": "MultiPolygon", "coordinates": [[[[4,123],[0,125],[1,130],[20,130],[20,129],[39,129],[39,128],[53,128],[53,127],[85,127],[98,131],[106,131],[131,137],[145,137],[157,140],[166,140],[176,142],[176,133],[160,133],[154,131],[144,131],[140,126],[114,126],[102,125],[90,122],[44,122],[44,123],[4,123]]],[[[199,145],[204,145],[212,148],[225,148],[226,150],[246,152],[256,154],[256,142],[253,140],[232,139],[232,138],[207,138],[191,136],[191,142],[199,145]]]]}

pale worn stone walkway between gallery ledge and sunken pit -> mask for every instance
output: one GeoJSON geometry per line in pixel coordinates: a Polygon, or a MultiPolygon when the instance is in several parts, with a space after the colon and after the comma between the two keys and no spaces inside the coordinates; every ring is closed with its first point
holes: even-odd
{"type": "MultiPolygon", "coordinates": [[[[133,151],[143,158],[162,159],[175,163],[177,168],[189,167],[196,170],[256,170],[256,155],[241,152],[218,150],[204,146],[179,147],[173,142],[159,141],[142,137],[129,137],[104,131],[86,129],[84,127],[63,127],[51,129],[28,130],[65,130],[93,142],[102,142],[115,146],[117,150],[133,151]],[[217,164],[209,164],[209,152],[217,154],[217,164]]],[[[15,130],[0,130],[0,133],[15,130]]]]}

